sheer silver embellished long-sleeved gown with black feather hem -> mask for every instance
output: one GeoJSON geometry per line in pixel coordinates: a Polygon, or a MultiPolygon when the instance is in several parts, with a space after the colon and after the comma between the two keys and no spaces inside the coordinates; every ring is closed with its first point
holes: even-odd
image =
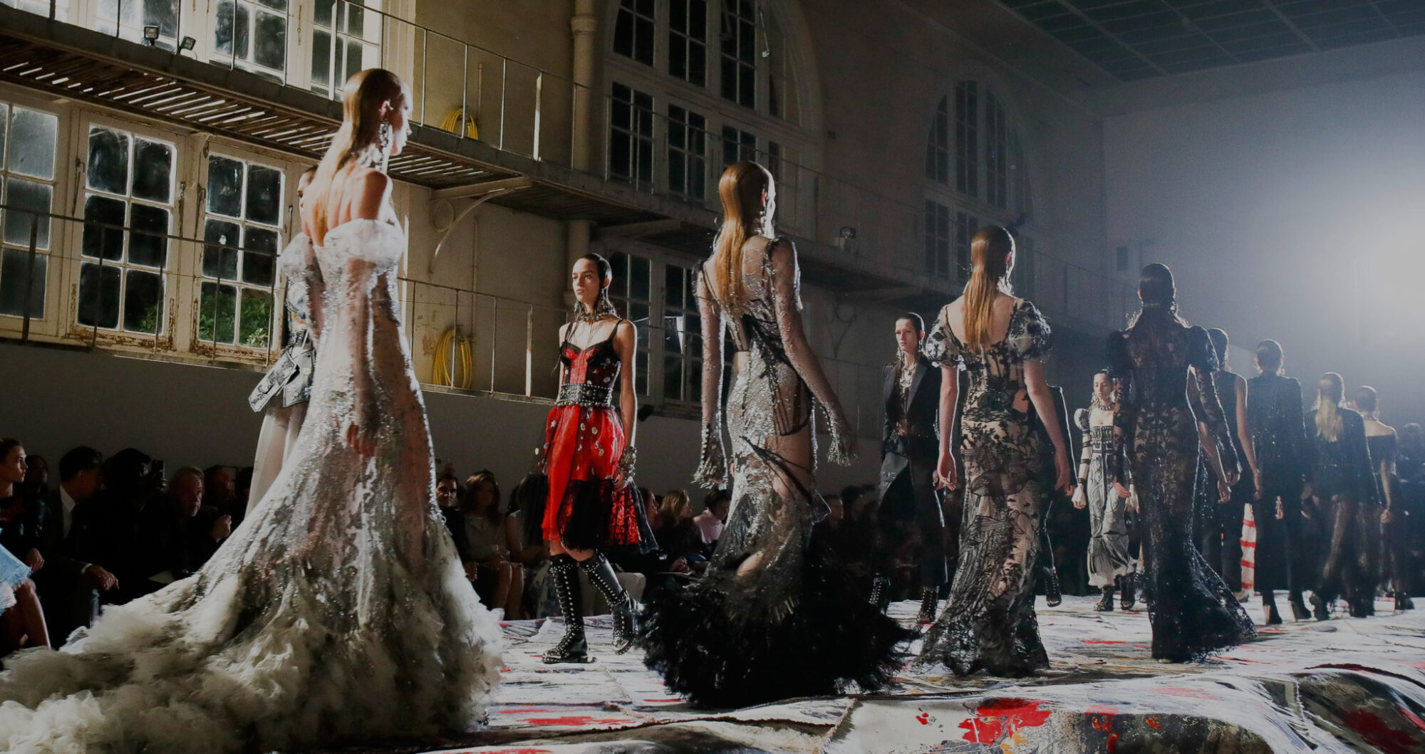
{"type": "MultiPolygon", "coordinates": [[[[828,411],[834,450],[849,431],[815,368],[801,324],[797,252],[778,239],[744,253],[740,312],[698,280],[704,337],[703,460],[695,482],[732,484],[732,505],[707,573],[664,592],[646,612],[646,663],[695,704],[741,707],[885,684],[908,637],[854,588],[814,526],[815,405],[828,411]],[[727,397],[731,464],[724,462],[722,333],[741,366],[727,397]],[[730,468],[728,468],[730,467],[730,468]]],[[[704,266],[703,276],[708,275],[704,266]]],[[[866,532],[869,536],[869,532],[866,532]]]]}

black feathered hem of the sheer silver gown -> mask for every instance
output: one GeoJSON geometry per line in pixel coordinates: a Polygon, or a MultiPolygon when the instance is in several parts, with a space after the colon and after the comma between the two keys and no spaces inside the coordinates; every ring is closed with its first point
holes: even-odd
{"type": "Polygon", "coordinates": [[[737,563],[687,589],[665,590],[644,612],[644,664],[701,707],[874,691],[902,667],[911,632],[858,595],[819,538],[795,600],[750,603],[737,563]]]}

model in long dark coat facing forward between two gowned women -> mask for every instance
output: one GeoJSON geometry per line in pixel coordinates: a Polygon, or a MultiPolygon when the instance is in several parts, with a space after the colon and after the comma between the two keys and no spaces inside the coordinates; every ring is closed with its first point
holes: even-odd
{"type": "Polygon", "coordinates": [[[885,368],[886,423],[881,442],[881,521],[921,546],[921,616],[935,622],[940,586],[948,580],[945,514],[935,492],[939,457],[940,370],[921,353],[925,322],[905,313],[895,320],[896,361],[885,368]]]}

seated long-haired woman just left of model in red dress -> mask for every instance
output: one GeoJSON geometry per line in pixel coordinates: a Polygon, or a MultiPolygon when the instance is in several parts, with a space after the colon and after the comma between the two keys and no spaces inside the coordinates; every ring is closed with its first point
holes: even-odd
{"type": "Polygon", "coordinates": [[[465,512],[465,573],[487,606],[502,607],[504,616],[513,620],[522,615],[524,569],[504,558],[504,516],[500,514],[500,485],[494,474],[480,471],[466,479],[460,508],[465,512]]]}

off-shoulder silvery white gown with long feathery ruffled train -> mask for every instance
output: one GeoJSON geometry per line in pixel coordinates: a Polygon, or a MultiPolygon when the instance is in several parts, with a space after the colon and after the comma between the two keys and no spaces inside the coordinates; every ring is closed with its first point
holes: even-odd
{"type": "Polygon", "coordinates": [[[479,723],[502,639],[435,504],[403,253],[385,222],[328,233],[312,401],[282,472],[198,573],[9,657],[0,748],[302,750],[479,723]],[[358,400],[379,415],[370,458],[345,441],[358,400]]]}

